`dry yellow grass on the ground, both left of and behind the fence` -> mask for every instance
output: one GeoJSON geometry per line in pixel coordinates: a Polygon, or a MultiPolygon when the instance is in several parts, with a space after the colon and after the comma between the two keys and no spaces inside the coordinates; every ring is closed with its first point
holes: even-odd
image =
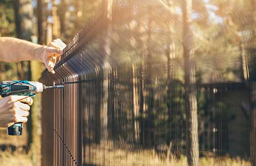
{"type": "MultiPolygon", "coordinates": [[[[8,140],[6,140],[8,141],[8,140]]],[[[186,166],[187,161],[185,156],[181,156],[180,159],[166,159],[163,156],[159,156],[154,150],[124,150],[112,148],[100,148],[97,146],[86,147],[86,165],[179,165],[186,166]]],[[[0,150],[0,165],[24,165],[32,166],[32,158],[30,152],[26,152],[23,147],[13,150],[11,146],[6,149],[0,150]]],[[[200,165],[220,165],[220,166],[249,166],[250,162],[241,158],[231,158],[229,156],[214,158],[214,157],[201,157],[200,165]]],[[[33,165],[34,166],[34,165],[33,165]]]]}

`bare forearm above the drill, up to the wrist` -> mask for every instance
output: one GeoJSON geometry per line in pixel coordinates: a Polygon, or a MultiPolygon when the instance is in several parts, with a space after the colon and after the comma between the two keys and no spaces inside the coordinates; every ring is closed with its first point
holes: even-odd
{"type": "Polygon", "coordinates": [[[45,46],[12,37],[0,37],[0,60],[18,62],[25,60],[42,61],[45,46]]]}

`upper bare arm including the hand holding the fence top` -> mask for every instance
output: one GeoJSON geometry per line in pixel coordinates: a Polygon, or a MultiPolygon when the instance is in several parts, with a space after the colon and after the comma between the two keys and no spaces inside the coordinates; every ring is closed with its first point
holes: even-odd
{"type": "Polygon", "coordinates": [[[37,60],[44,62],[49,72],[54,73],[56,58],[62,54],[65,46],[66,44],[60,39],[53,40],[45,46],[12,37],[0,37],[0,60],[5,62],[37,60]]]}

